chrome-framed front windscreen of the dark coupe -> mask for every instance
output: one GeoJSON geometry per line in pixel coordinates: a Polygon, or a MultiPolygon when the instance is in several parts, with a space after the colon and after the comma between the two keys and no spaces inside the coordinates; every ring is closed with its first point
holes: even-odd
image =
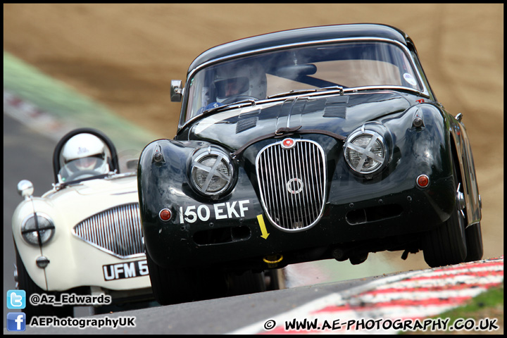
{"type": "Polygon", "coordinates": [[[408,51],[383,41],[334,42],[243,56],[196,72],[185,89],[189,120],[209,108],[291,90],[399,86],[423,90],[408,51]]]}

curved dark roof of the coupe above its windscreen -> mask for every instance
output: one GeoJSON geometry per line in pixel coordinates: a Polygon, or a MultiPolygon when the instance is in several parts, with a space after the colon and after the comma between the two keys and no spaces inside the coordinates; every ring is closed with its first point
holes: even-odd
{"type": "Polygon", "coordinates": [[[410,38],[396,27],[373,23],[356,23],[347,25],[325,25],[317,27],[298,28],[294,30],[283,30],[254,37],[220,44],[201,55],[197,56],[189,66],[188,73],[199,65],[215,59],[241,54],[246,51],[266,49],[273,46],[298,44],[308,41],[327,39],[354,38],[354,37],[376,37],[392,39],[407,45],[410,38]]]}

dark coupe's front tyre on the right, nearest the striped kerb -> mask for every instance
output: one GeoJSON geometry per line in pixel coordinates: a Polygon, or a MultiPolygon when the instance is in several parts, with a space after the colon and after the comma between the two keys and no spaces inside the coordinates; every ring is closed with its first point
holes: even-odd
{"type": "MultiPolygon", "coordinates": [[[[457,191],[459,181],[455,166],[453,178],[454,189],[457,191]]],[[[467,256],[465,218],[457,197],[449,220],[423,235],[423,253],[427,265],[432,268],[465,261],[467,256]]]]}

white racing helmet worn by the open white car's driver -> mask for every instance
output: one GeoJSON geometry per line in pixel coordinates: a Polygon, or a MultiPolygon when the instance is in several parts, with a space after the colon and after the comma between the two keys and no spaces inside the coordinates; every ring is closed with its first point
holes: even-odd
{"type": "Polygon", "coordinates": [[[65,165],[73,161],[77,170],[93,170],[101,174],[109,172],[106,145],[93,134],[71,137],[63,146],[62,157],[65,165]]]}

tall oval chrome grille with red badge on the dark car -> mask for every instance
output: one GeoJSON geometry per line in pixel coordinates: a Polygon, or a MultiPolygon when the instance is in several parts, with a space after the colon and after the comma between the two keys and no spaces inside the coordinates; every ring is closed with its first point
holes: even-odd
{"type": "Polygon", "coordinates": [[[320,220],[325,205],[326,165],[322,147],[310,140],[284,139],[256,158],[261,202],[273,225],[297,231],[320,220]]]}

